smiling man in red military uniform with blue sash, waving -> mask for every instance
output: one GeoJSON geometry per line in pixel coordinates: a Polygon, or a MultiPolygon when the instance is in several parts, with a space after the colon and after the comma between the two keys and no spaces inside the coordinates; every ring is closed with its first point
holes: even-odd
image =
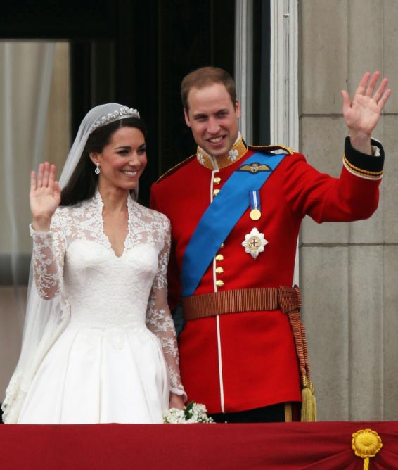
{"type": "Polygon", "coordinates": [[[292,288],[305,215],[316,222],[370,217],[378,206],[384,151],[371,133],[390,96],[366,73],[342,91],[349,137],[340,178],[321,174],[284,146],[249,146],[227,72],[205,67],[181,84],[197,152],[151,189],[172,222],[169,303],[182,300],[181,379],[188,400],[219,422],[314,420],[314,388],[292,288]],[[275,153],[275,151],[278,151],[275,153]]]}

